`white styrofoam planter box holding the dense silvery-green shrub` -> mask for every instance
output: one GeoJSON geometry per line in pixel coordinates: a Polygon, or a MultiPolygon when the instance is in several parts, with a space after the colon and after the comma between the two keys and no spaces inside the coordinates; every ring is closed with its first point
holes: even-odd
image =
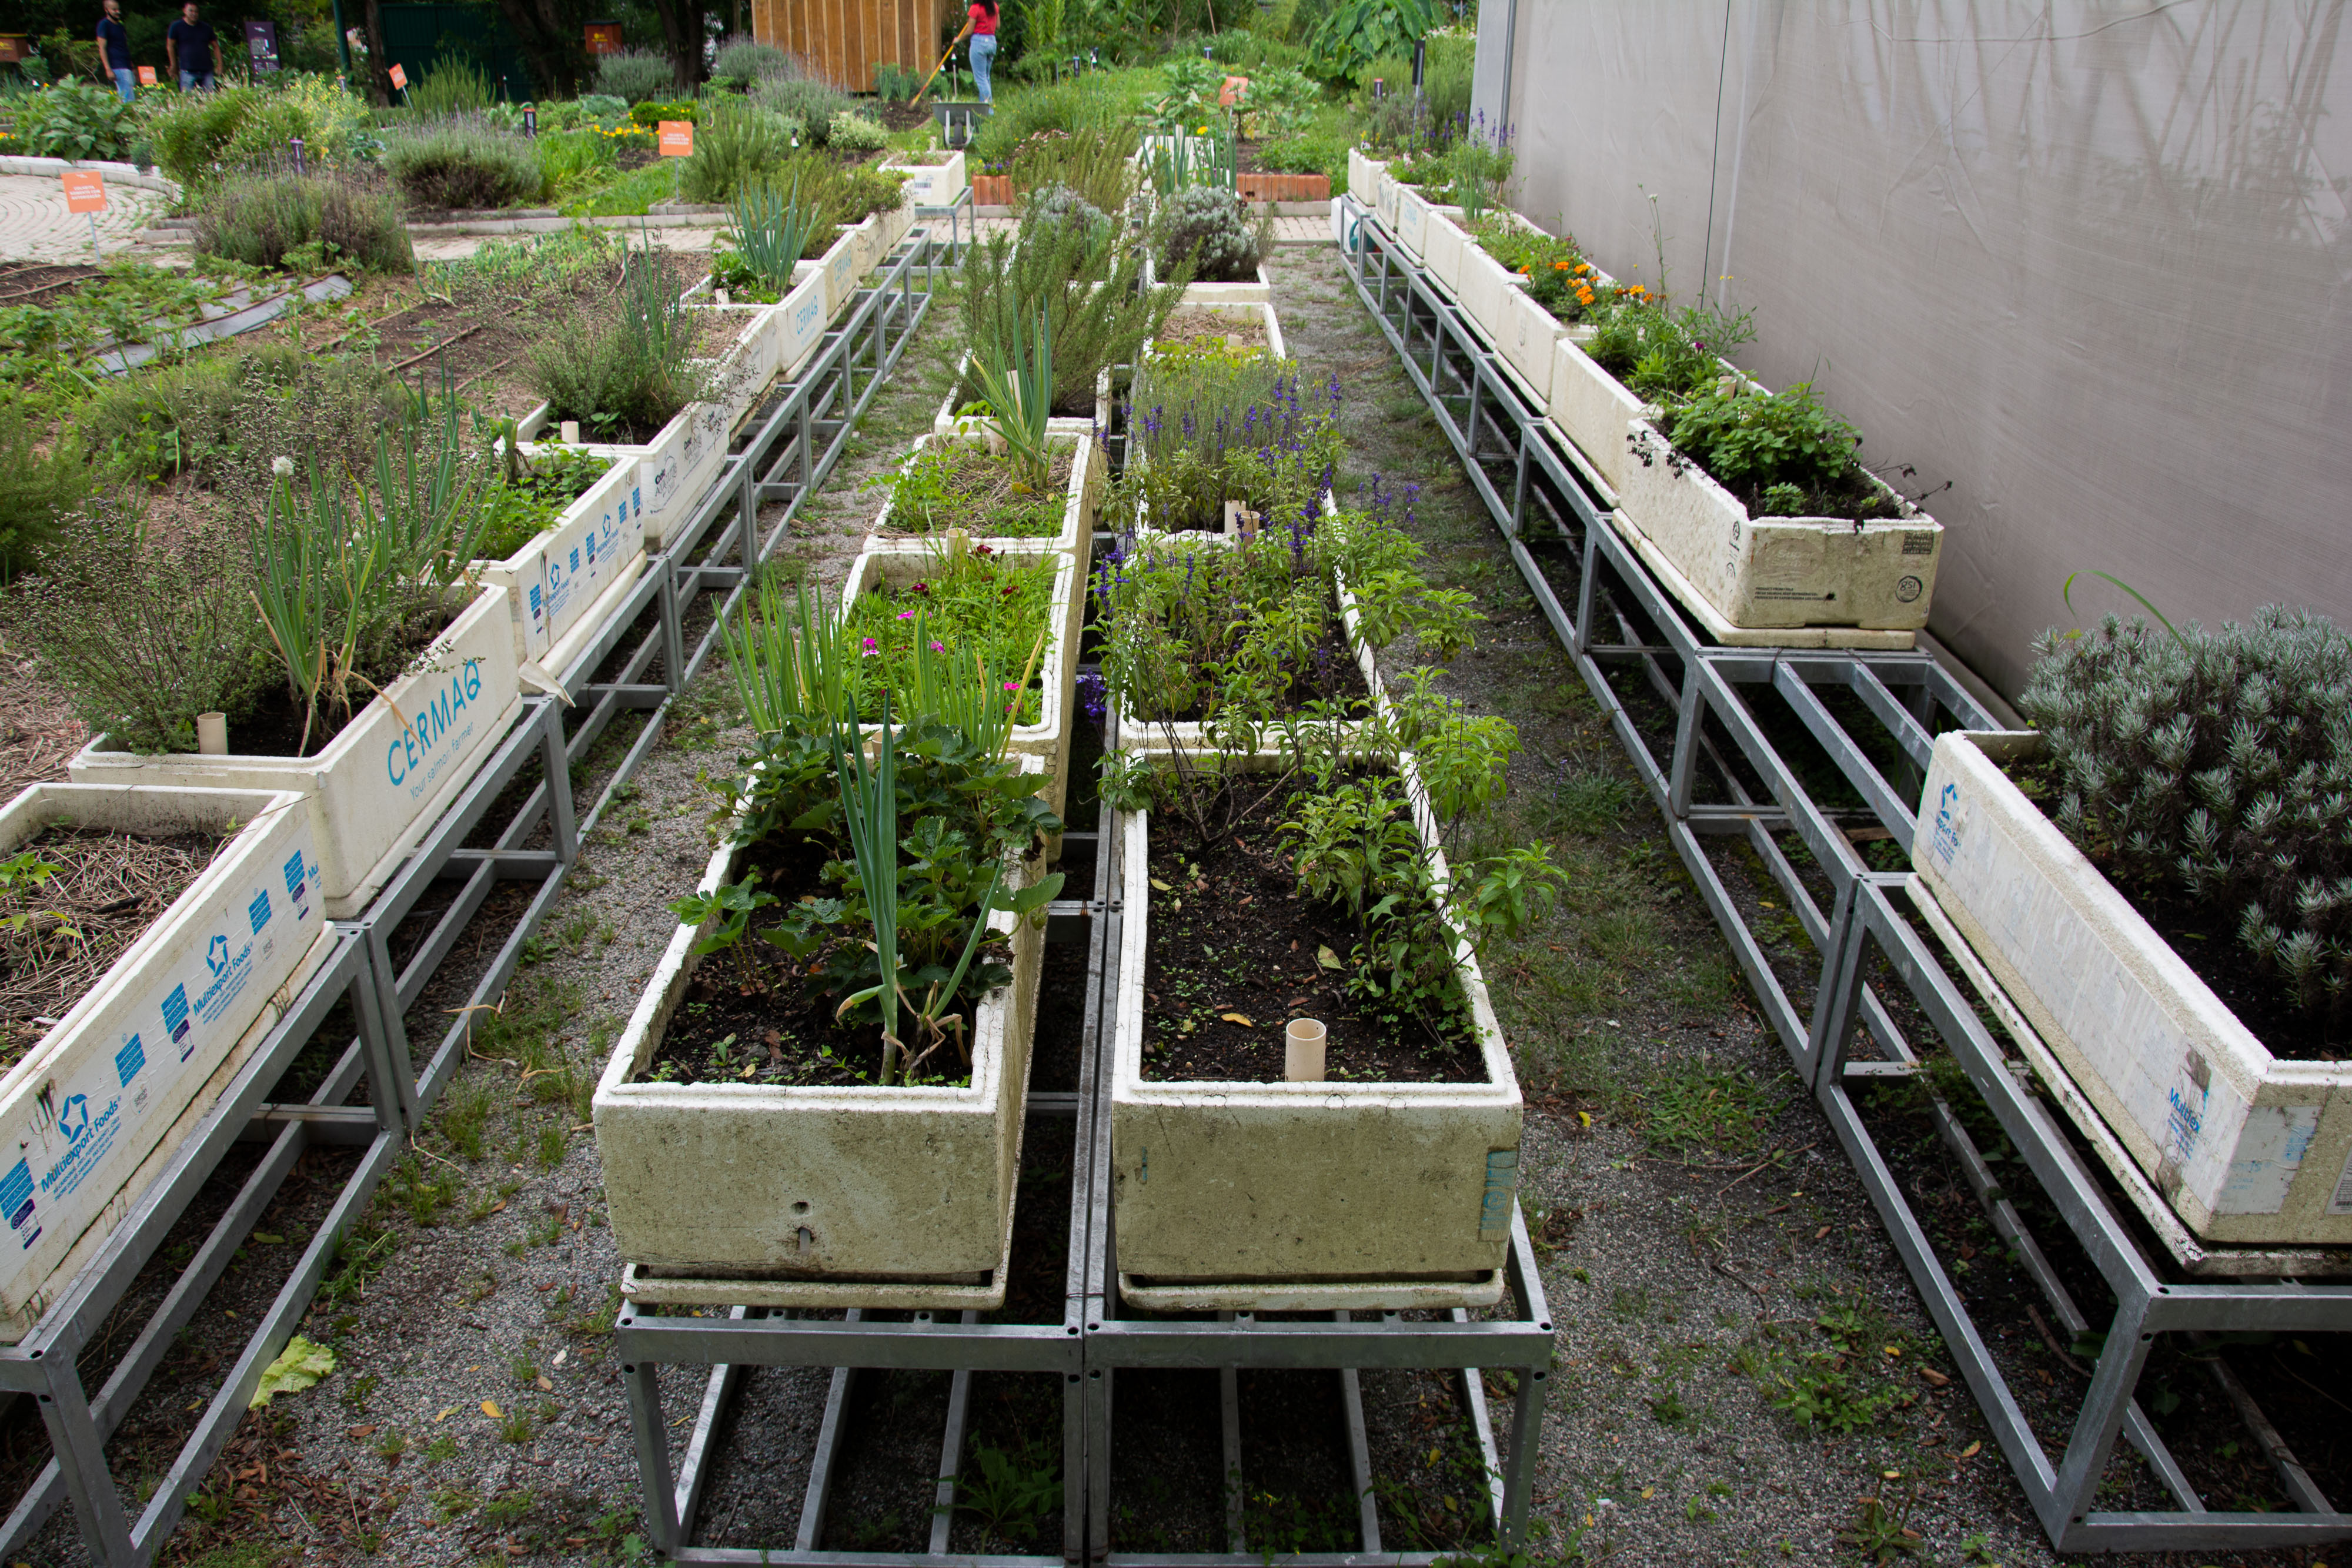
{"type": "Polygon", "coordinates": [[[2209,1241],[2352,1244],[2352,1063],[2274,1058],[2009,783],[1943,733],[1912,865],[2133,1161],[2209,1241]]]}

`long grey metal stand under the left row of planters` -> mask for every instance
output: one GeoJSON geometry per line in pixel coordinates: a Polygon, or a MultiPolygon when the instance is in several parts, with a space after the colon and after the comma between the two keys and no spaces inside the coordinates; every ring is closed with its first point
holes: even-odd
{"type": "MultiPolygon", "coordinates": [[[[423,1128],[433,1103],[454,1077],[475,1013],[492,1009],[506,994],[524,943],[539,929],[562,889],[564,872],[579,856],[581,835],[595,827],[597,816],[614,799],[614,790],[652,752],[668,703],[708,656],[715,632],[701,637],[691,658],[684,656],[682,625],[694,597],[724,592],[722,614],[731,611],[746,581],[790,531],[802,501],[826,482],[856,418],[873,402],[880,381],[896,367],[906,341],[929,310],[943,249],[953,254],[953,247],[931,240],[929,228],[910,230],[884,263],[880,284],[856,296],[849,317],[826,334],[802,374],[781,388],[769,414],[748,440],[739,442],[736,456],[713,491],[699,501],[689,524],[680,529],[670,548],[649,562],[635,592],[562,675],[562,696],[524,701],[520,722],[468,783],[459,804],[433,825],[367,912],[355,922],[332,926],[332,938],[327,938],[332,950],[325,964],[301,994],[289,999],[278,1025],[179,1147],[165,1173],[132,1201],[129,1218],[115,1227],[106,1251],[75,1274],[19,1345],[0,1347],[0,1389],[26,1392],[40,1401],[54,1450],[14,1512],[0,1521],[0,1556],[14,1559],[24,1552],[56,1507],[71,1502],[92,1561],[106,1568],[146,1568],[155,1561],[186,1512],[188,1495],[202,1486],[212,1462],[245,1418],[261,1373],[294,1335],[343,1237],[367,1213],[383,1173],[397,1161],[407,1140],[423,1128]],[[915,287],[917,270],[920,289],[915,287]],[[757,508],[774,501],[783,501],[783,515],[762,536],[757,508]],[[717,550],[706,555],[731,550],[736,564],[694,562],[713,524],[729,515],[729,508],[734,508],[736,527],[727,531],[717,550]],[[640,632],[637,646],[621,661],[619,677],[595,682],[595,672],[614,658],[647,609],[659,609],[654,625],[649,632],[640,632]],[[659,684],[647,679],[656,658],[663,661],[659,684]],[[590,703],[586,722],[567,736],[564,712],[581,701],[590,703]],[[623,757],[588,820],[576,823],[572,766],[586,757],[619,712],[633,708],[649,710],[652,722],[623,757]],[[501,797],[517,788],[534,762],[539,780],[499,825],[492,844],[487,849],[468,846],[468,839],[485,832],[485,820],[501,797]],[[452,1023],[433,1044],[423,1070],[416,1070],[402,1018],[423,997],[501,884],[524,884],[529,900],[496,957],[477,976],[468,1001],[449,1009],[452,1023]],[[442,893],[447,903],[435,912],[433,926],[407,959],[395,961],[393,933],[416,914],[428,893],[442,893]],[[287,1065],[343,1001],[353,1009],[358,1037],[341,1051],[320,1088],[299,1105],[266,1100],[285,1077],[287,1065]],[[346,1105],[362,1079],[369,1103],[346,1105]],[[96,1396],[89,1396],[78,1373],[80,1352],[103,1331],[165,1234],[214,1175],[228,1145],[254,1140],[268,1143],[261,1164],[181,1269],[96,1396]],[[360,1147],[358,1166],[343,1178],[341,1192],[303,1248],[294,1274],[256,1324],[221,1389],[205,1406],[172,1472],[155,1488],[139,1521],[132,1523],[122,1507],[122,1490],[106,1469],[106,1439],[162,1366],[174,1335],[219,1284],[294,1161],[303,1150],[332,1145],[360,1147]]],[[[1044,1333],[1040,1331],[1040,1335],[1044,1333]]],[[[1070,1328],[1063,1340],[1075,1345],[1077,1331],[1070,1328]]],[[[1075,1352],[1070,1354],[1075,1356],[1075,1352]]]]}

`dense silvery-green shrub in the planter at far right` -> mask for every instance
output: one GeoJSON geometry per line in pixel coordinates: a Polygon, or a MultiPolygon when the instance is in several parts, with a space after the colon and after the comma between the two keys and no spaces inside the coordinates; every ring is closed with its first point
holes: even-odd
{"type": "MultiPolygon", "coordinates": [[[[2046,806],[2126,886],[2237,917],[2288,1001],[2352,997],[2352,642],[2265,607],[2206,632],[2046,632],[2018,710],[2046,736],[2046,806]]],[[[2220,954],[2213,954],[2220,957],[2220,954]]]]}

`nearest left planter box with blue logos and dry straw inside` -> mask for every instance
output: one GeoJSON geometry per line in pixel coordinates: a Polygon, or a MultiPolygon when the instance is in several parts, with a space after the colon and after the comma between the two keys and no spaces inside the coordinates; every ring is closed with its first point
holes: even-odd
{"type": "Polygon", "coordinates": [[[26,917],[7,936],[12,1006],[54,1009],[9,1020],[12,1046],[26,1025],[31,1041],[0,1077],[14,1342],[318,966],[325,912],[313,820],[275,790],[38,783],[0,809],[0,853],[26,917]]]}

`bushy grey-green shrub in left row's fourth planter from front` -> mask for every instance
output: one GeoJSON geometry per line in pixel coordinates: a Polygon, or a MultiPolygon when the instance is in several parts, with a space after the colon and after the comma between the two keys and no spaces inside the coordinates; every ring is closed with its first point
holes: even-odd
{"type": "Polygon", "coordinates": [[[621,310],[602,301],[532,348],[532,383],[553,418],[576,418],[597,440],[644,440],[708,393],[687,364],[694,317],[668,259],[635,252],[621,270],[621,310]]]}

